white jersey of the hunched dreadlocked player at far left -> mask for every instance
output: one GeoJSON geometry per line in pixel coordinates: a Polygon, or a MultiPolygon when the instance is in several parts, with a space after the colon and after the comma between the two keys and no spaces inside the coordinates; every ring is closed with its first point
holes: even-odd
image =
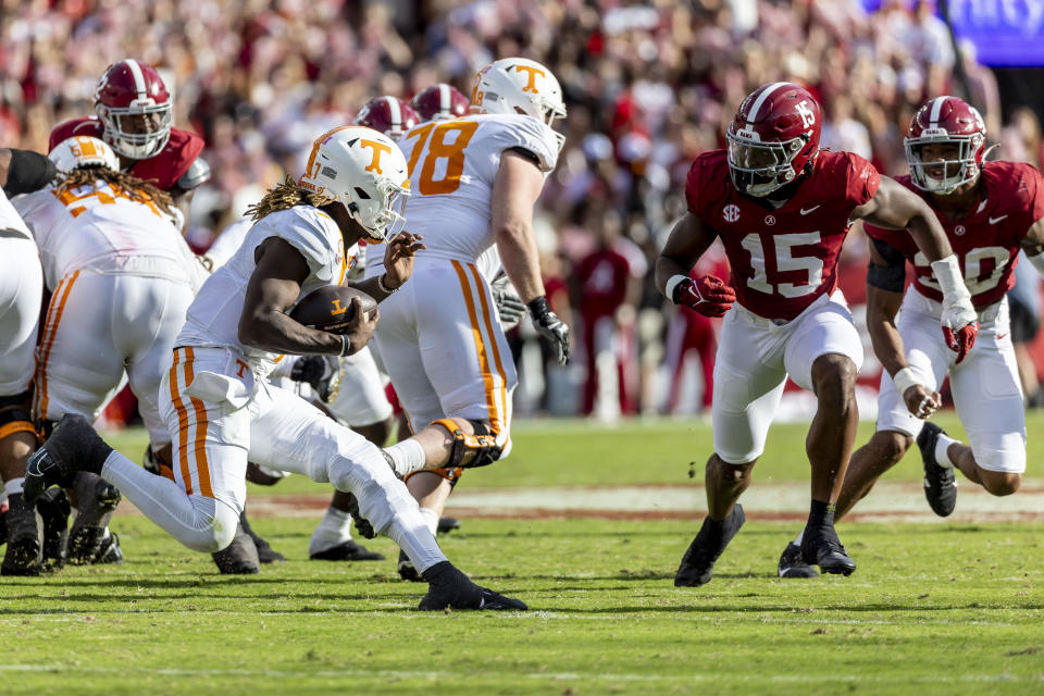
{"type": "Polygon", "coordinates": [[[69,273],[87,269],[192,282],[189,261],[195,261],[176,219],[151,201],[114,192],[104,181],[46,188],[13,204],[33,232],[51,289],[69,273]]]}

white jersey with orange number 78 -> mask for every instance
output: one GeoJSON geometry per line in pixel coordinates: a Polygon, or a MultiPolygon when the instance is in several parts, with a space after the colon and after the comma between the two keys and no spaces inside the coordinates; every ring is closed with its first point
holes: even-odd
{"type": "MultiPolygon", "coordinates": [[[[410,166],[406,229],[424,236],[425,257],[469,263],[475,263],[495,241],[489,224],[493,185],[504,151],[531,152],[543,172],[558,163],[555,132],[521,114],[432,121],[411,128],[399,139],[399,147],[408,153],[410,166]]],[[[371,265],[375,268],[366,275],[384,272],[376,258],[371,265]]]]}

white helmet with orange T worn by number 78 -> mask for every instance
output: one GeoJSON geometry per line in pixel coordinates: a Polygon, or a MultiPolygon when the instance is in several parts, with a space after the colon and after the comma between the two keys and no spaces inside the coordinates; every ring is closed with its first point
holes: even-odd
{"type": "MultiPolygon", "coordinates": [[[[523,113],[552,126],[566,117],[562,87],[550,70],[526,58],[502,58],[475,75],[472,113],[523,113]]],[[[558,133],[561,151],[566,136],[558,133]]]]}

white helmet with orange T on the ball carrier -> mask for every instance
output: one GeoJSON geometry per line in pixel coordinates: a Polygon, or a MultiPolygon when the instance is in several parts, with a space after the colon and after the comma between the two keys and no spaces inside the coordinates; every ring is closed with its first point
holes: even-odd
{"type": "Polygon", "coordinates": [[[312,146],[298,184],[330,196],[377,241],[402,229],[401,211],[410,195],[406,156],[383,133],[363,126],[340,126],[312,146]]]}

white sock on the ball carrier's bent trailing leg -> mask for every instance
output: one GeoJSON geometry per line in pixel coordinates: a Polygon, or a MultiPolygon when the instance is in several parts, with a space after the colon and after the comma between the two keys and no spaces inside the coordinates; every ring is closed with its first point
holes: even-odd
{"type": "Polygon", "coordinates": [[[211,554],[232,543],[239,511],[214,498],[190,496],[179,485],[150,474],[117,451],[105,459],[101,477],[113,484],[145,517],[192,549],[211,554]]]}

